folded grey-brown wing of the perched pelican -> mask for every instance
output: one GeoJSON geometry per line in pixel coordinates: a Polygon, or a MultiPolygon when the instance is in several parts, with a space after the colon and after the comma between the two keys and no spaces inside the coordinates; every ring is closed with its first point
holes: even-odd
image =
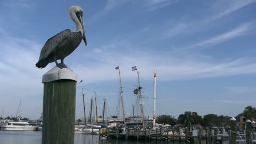
{"type": "Polygon", "coordinates": [[[65,40],[68,36],[68,34],[70,33],[70,29],[66,29],[56,35],[54,35],[53,37],[51,37],[50,39],[48,39],[46,41],[46,43],[44,44],[41,52],[40,52],[40,57],[39,60],[45,59],[46,57],[48,57],[50,55],[51,52],[54,51],[54,49],[60,45],[62,43],[63,40],[65,40]]]}

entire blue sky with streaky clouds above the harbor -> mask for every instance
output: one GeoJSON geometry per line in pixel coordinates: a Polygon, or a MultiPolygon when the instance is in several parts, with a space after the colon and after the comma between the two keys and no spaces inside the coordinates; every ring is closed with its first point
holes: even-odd
{"type": "MultiPolygon", "coordinates": [[[[126,115],[131,115],[132,88],[141,77],[146,116],[153,116],[153,78],[157,76],[157,115],[236,116],[256,106],[256,1],[104,0],[0,2],[0,108],[3,116],[39,117],[42,75],[54,67],[35,67],[45,41],[75,31],[69,7],[84,9],[88,46],[81,44],[65,59],[78,74],[76,116],[83,116],[96,91],[108,115],[118,101],[119,65],[126,115]]],[[[99,112],[101,115],[101,112],[99,112]]],[[[88,113],[87,113],[88,115],[88,113]]]]}

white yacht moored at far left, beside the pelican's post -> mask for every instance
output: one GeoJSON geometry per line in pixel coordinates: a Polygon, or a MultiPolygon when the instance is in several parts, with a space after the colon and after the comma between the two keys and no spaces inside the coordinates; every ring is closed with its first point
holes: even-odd
{"type": "Polygon", "coordinates": [[[5,120],[1,125],[1,130],[28,130],[34,131],[37,126],[32,126],[28,122],[10,122],[5,120]]]}

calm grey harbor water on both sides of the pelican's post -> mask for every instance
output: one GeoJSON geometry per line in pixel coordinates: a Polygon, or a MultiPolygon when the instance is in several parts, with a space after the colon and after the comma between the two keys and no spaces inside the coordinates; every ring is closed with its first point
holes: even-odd
{"type": "MultiPolygon", "coordinates": [[[[0,130],[0,144],[41,144],[42,143],[42,131],[4,131],[0,130]]],[[[156,140],[124,140],[124,139],[98,139],[98,135],[86,135],[86,134],[75,134],[74,135],[75,144],[85,144],[85,143],[173,143],[172,141],[156,141],[156,140]]],[[[174,143],[179,143],[175,141],[174,143]]],[[[185,142],[181,142],[185,143],[185,142]]],[[[197,140],[194,143],[198,143],[197,140]]],[[[206,143],[206,141],[201,141],[201,143],[206,143]]],[[[208,141],[207,143],[211,143],[208,141]]],[[[228,141],[223,141],[223,143],[229,143],[228,141]]]]}

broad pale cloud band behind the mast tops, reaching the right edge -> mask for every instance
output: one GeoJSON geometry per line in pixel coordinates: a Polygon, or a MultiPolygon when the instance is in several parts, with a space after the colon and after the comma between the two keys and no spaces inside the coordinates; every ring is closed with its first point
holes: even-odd
{"type": "MultiPolygon", "coordinates": [[[[73,69],[78,73],[86,71],[82,79],[88,83],[98,81],[117,80],[117,71],[115,66],[119,65],[122,71],[123,79],[131,79],[134,73],[131,67],[137,65],[138,70],[142,73],[143,79],[152,79],[153,69],[158,69],[158,79],[184,80],[184,79],[204,79],[220,76],[235,76],[256,73],[255,59],[245,57],[232,61],[214,62],[201,55],[180,55],[179,53],[158,53],[156,51],[134,52],[137,49],[129,44],[110,44],[101,47],[101,53],[86,53],[86,58],[94,61],[94,65],[76,65],[73,69]],[[121,52],[120,50],[126,50],[121,52]],[[102,75],[104,71],[104,75],[102,75]],[[108,75],[108,76],[106,76],[108,75]]],[[[86,59],[84,60],[86,61],[86,59]]]]}

